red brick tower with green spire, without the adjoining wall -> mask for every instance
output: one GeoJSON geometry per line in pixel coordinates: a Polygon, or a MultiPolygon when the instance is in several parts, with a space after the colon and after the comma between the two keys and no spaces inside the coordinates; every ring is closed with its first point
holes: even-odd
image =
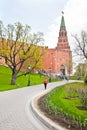
{"type": "Polygon", "coordinates": [[[70,50],[67,31],[62,12],[62,19],[57,43],[57,67],[58,73],[71,74],[72,73],[72,52],[70,50]]]}

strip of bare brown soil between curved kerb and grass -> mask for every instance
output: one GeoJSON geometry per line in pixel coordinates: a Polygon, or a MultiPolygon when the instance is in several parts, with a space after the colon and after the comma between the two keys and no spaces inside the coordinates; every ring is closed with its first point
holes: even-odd
{"type": "MultiPolygon", "coordinates": [[[[46,95],[45,95],[46,96],[46,95]]],[[[45,107],[45,96],[41,97],[38,100],[39,109],[44,112],[45,116],[53,120],[55,123],[59,124],[60,126],[65,127],[69,130],[87,130],[87,126],[80,128],[78,123],[72,120],[70,117],[66,117],[64,114],[50,114],[49,110],[45,107]]]]}

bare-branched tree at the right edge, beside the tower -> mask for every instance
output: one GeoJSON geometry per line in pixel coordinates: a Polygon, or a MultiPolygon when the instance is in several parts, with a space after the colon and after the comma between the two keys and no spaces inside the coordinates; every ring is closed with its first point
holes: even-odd
{"type": "Polygon", "coordinates": [[[87,60],[87,33],[85,31],[81,32],[80,38],[77,35],[73,35],[76,40],[75,53],[87,60]]]}

